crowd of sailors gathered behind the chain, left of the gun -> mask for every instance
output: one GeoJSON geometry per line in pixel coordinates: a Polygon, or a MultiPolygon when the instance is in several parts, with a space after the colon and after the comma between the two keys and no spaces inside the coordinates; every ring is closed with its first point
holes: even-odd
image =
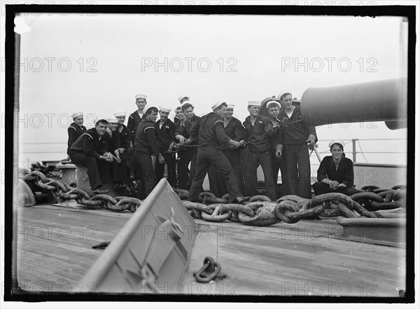
{"type": "Polygon", "coordinates": [[[146,95],[135,98],[137,110],[127,126],[125,111],[98,120],[89,130],[82,112],[71,115],[67,153],[74,164],[87,167],[94,193],[106,193],[102,184],[112,182],[116,190],[132,195],[135,179],[137,198],[144,199],[164,177],[167,165],[167,181],[189,190],[190,201],[197,201],[208,174],[210,191],[217,197],[229,193],[230,202],[242,202],[257,194],[261,165],[265,195],[271,200],[279,198],[279,170],[283,194],[311,198],[309,150],[317,142],[316,130],[293,105],[290,91],[263,102],[249,101],[243,123],[232,116],[235,105],[223,101],[200,117],[190,98],[181,96],[171,121],[168,107],[145,109],[146,95]]]}

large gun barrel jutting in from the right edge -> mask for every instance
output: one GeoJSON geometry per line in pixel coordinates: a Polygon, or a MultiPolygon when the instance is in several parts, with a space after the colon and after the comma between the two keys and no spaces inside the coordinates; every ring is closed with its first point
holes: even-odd
{"type": "Polygon", "coordinates": [[[385,121],[407,128],[407,78],[308,88],[300,102],[312,125],[385,121]]]}

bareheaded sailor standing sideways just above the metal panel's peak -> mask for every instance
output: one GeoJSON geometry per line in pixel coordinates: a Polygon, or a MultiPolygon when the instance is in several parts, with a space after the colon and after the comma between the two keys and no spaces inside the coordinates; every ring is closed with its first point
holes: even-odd
{"type": "MultiPolygon", "coordinates": [[[[145,195],[149,195],[155,187],[155,171],[151,156],[154,154],[160,164],[165,163],[165,158],[159,150],[158,139],[156,138],[155,121],[158,118],[158,109],[150,107],[146,111],[139,127],[137,127],[136,139],[134,142],[134,160],[141,167],[144,180],[145,195]]],[[[139,191],[138,198],[145,198],[139,191]]]]}

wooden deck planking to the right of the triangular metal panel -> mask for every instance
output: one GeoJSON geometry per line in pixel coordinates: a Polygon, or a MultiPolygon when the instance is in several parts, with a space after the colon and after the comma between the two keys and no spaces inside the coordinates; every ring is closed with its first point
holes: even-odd
{"type": "Polygon", "coordinates": [[[207,255],[221,263],[221,271],[228,277],[210,287],[193,284],[193,294],[210,289],[216,294],[398,297],[400,289],[405,289],[402,247],[305,238],[307,230],[296,237],[283,233],[286,225],[290,228],[284,223],[266,228],[225,223],[224,228],[236,231],[228,238],[227,233],[221,233],[222,225],[211,225],[211,238],[197,238],[186,287],[207,255]]]}

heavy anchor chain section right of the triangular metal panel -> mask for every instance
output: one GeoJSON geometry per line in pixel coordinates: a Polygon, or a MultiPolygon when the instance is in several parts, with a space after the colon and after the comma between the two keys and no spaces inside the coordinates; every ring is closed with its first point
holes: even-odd
{"type": "Polygon", "coordinates": [[[269,226],[284,221],[295,224],[300,219],[325,219],[343,216],[382,218],[377,210],[391,210],[405,207],[405,186],[380,189],[374,186],[364,187],[352,196],[342,193],[326,193],[312,199],[297,195],[286,195],[276,202],[265,195],[255,195],[244,205],[228,203],[229,195],[216,198],[213,193],[200,193],[200,202],[190,202],[188,191],[174,189],[183,200],[193,218],[211,222],[226,220],[241,222],[251,226],[269,226]],[[369,191],[367,191],[369,190],[369,191]]]}

